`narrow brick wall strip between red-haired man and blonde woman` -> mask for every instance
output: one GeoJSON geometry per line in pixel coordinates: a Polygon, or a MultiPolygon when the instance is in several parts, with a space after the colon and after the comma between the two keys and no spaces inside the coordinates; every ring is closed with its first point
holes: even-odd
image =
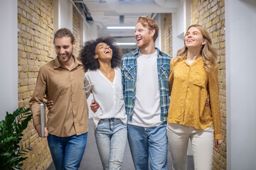
{"type": "Polygon", "coordinates": [[[171,13],[164,13],[164,48],[163,52],[173,57],[171,13]]]}

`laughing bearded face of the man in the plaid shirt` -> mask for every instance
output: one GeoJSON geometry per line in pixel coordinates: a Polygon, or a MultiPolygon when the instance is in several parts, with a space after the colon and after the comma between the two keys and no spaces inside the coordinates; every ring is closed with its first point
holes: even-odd
{"type": "Polygon", "coordinates": [[[149,30],[149,28],[142,26],[142,23],[137,23],[135,26],[135,38],[137,40],[137,46],[143,48],[148,46],[150,43],[154,44],[154,33],[155,30],[149,30]]]}

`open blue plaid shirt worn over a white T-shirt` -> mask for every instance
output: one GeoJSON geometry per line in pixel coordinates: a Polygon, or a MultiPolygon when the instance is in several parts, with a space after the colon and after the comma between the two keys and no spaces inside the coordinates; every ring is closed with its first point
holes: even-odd
{"type": "MultiPolygon", "coordinates": [[[[167,119],[169,111],[169,72],[171,57],[157,50],[157,72],[159,77],[160,89],[160,106],[161,106],[161,121],[167,119]]],[[[137,58],[139,57],[139,48],[127,53],[122,57],[121,70],[122,70],[122,86],[124,92],[124,103],[127,118],[132,121],[134,113],[134,103],[136,96],[136,80],[137,80],[137,58]]],[[[145,71],[146,72],[146,71],[145,71]]],[[[145,87],[146,88],[146,87],[145,87]]]]}

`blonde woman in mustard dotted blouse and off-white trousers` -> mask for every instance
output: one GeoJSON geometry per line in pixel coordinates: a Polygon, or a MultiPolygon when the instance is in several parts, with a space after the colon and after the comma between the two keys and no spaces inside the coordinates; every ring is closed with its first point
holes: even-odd
{"type": "Polygon", "coordinates": [[[209,33],[199,25],[188,28],[184,44],[171,60],[168,142],[173,169],[187,169],[190,138],[195,169],[206,170],[212,167],[213,137],[216,148],[223,142],[216,52],[209,33]]]}

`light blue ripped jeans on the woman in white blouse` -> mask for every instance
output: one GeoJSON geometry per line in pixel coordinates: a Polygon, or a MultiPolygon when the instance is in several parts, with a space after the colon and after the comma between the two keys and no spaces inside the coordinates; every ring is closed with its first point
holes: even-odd
{"type": "Polygon", "coordinates": [[[95,130],[103,169],[121,169],[127,145],[127,125],[116,118],[102,119],[95,130]]]}

